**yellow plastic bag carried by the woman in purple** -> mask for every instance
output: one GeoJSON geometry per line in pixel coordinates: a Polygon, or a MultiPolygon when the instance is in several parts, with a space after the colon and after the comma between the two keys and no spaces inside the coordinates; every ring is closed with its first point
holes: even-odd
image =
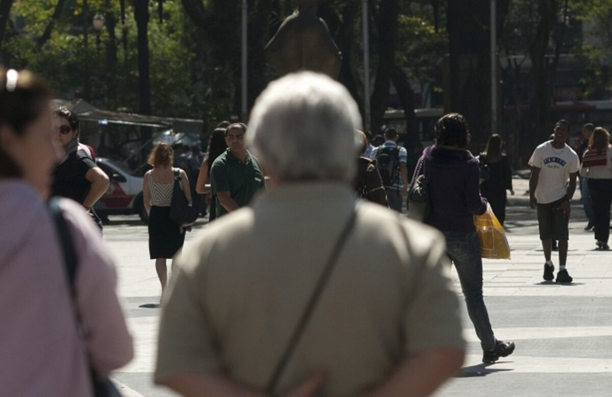
{"type": "Polygon", "coordinates": [[[476,235],[480,242],[480,253],[487,259],[510,259],[510,244],[504,227],[487,204],[487,212],[474,216],[476,235]]]}

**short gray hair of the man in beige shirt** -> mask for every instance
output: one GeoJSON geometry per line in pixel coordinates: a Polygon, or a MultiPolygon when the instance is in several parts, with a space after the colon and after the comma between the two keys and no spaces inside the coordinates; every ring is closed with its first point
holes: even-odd
{"type": "Polygon", "coordinates": [[[361,128],[348,90],[325,75],[303,71],[273,81],[259,96],[247,144],[282,181],[351,181],[361,128]]]}

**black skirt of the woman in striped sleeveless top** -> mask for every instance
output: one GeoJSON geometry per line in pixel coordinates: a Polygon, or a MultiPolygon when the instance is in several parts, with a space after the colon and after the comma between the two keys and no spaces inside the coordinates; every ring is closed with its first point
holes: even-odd
{"type": "Polygon", "coordinates": [[[170,219],[170,207],[151,206],[149,253],[151,259],[171,259],[182,248],[185,231],[170,219]]]}

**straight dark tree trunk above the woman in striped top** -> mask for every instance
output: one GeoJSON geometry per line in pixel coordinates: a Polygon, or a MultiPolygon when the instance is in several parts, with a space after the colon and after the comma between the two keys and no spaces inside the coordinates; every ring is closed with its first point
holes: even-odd
{"type": "MultiPolygon", "coordinates": [[[[135,0],[134,17],[138,29],[138,112],[151,114],[151,81],[149,80],[149,1],[135,0]]],[[[151,128],[143,128],[141,142],[151,139],[151,128]]]]}

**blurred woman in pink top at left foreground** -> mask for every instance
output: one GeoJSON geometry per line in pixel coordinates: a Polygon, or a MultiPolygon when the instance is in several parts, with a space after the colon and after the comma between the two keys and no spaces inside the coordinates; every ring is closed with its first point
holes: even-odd
{"type": "Polygon", "coordinates": [[[75,305],[70,296],[44,201],[58,161],[50,99],[28,71],[0,69],[0,394],[6,396],[91,396],[90,368],[106,376],[133,356],[113,262],[83,208],[63,199],[78,257],[75,305]]]}

